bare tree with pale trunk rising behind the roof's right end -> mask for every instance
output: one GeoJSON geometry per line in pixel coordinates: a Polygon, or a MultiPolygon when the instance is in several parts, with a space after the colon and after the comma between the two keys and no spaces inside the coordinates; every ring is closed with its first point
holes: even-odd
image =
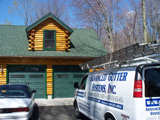
{"type": "Polygon", "coordinates": [[[77,18],[94,29],[102,42],[110,47],[108,51],[115,50],[114,39],[116,38],[116,12],[119,0],[72,0],[76,9],[77,18]]]}

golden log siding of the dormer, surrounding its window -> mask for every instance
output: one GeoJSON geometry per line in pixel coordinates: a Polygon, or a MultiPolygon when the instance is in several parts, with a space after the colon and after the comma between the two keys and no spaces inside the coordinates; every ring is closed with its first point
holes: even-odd
{"type": "Polygon", "coordinates": [[[69,46],[66,44],[68,43],[68,37],[66,36],[69,36],[70,33],[67,34],[67,30],[52,18],[46,19],[29,31],[28,50],[43,50],[43,30],[56,30],[56,51],[69,51],[69,46]]]}

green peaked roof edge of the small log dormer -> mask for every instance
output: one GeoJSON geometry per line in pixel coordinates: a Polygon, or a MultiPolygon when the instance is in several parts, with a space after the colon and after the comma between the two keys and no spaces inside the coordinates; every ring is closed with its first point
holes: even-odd
{"type": "Polygon", "coordinates": [[[40,24],[41,22],[43,22],[44,20],[46,20],[49,17],[53,18],[56,22],[58,22],[60,25],[62,25],[70,33],[73,33],[73,30],[69,26],[67,26],[64,22],[62,22],[59,18],[57,18],[51,12],[48,13],[47,15],[45,15],[44,17],[40,18],[39,20],[37,20],[36,22],[34,22],[33,24],[31,24],[30,26],[28,26],[26,28],[26,31],[28,32],[29,30],[33,29],[35,26],[37,26],[38,24],[40,24]]]}

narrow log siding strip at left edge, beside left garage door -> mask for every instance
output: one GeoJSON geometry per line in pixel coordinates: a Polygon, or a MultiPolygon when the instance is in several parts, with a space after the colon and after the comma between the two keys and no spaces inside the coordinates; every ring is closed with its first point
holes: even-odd
{"type": "Polygon", "coordinates": [[[0,65],[0,85],[6,84],[6,71],[6,65],[0,65]]]}

